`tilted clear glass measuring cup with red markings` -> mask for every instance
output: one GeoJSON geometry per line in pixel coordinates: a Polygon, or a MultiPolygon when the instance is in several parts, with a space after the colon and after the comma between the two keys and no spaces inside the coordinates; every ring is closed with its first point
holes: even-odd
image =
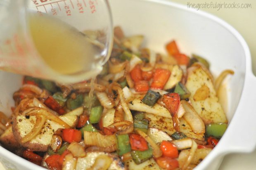
{"type": "Polygon", "coordinates": [[[112,20],[106,0],[3,0],[0,69],[74,83],[109,59],[112,20]]]}

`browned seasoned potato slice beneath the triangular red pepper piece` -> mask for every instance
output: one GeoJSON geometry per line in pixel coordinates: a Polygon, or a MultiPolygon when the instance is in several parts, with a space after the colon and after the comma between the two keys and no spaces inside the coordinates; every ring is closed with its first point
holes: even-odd
{"type": "MultiPolygon", "coordinates": [[[[156,116],[151,113],[145,113],[145,118],[149,120],[149,128],[157,128],[168,135],[172,135],[175,132],[172,118],[156,116]]],[[[180,118],[180,132],[183,132],[187,137],[204,141],[204,134],[196,135],[192,132],[190,125],[183,118],[180,118]]]]}

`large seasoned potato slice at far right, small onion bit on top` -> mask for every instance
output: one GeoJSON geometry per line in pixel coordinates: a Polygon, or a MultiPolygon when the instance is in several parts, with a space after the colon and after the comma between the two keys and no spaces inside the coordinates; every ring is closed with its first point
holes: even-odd
{"type": "Polygon", "coordinates": [[[206,125],[209,123],[227,123],[225,113],[218,102],[218,97],[216,97],[211,77],[201,66],[190,68],[185,86],[191,93],[192,106],[206,125]],[[204,100],[195,101],[194,94],[203,86],[209,88],[209,96],[204,100]]]}

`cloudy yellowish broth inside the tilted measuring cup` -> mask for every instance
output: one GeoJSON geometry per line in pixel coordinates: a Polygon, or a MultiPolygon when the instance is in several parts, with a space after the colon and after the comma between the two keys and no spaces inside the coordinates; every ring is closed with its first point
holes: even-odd
{"type": "Polygon", "coordinates": [[[40,57],[54,71],[74,74],[92,70],[100,50],[76,28],[48,16],[31,14],[29,27],[40,57]]]}

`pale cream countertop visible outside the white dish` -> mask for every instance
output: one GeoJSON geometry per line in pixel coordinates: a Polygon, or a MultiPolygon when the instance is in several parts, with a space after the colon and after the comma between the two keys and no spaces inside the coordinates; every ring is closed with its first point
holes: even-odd
{"type": "MultiPolygon", "coordinates": [[[[220,17],[221,19],[227,21],[230,25],[242,34],[244,39],[247,41],[249,48],[251,50],[254,74],[256,73],[256,0],[171,0],[173,2],[178,2],[187,5],[189,2],[198,3],[249,3],[251,8],[247,9],[214,9],[214,8],[204,8],[199,10],[204,10],[211,14],[220,17]]],[[[248,134],[254,135],[254,134],[248,134]]],[[[239,137],[239,135],[238,135],[239,137]]],[[[220,170],[253,170],[256,169],[256,151],[253,153],[232,153],[225,156],[223,163],[220,166],[220,170]]],[[[0,163],[0,170],[5,170],[5,168],[0,163]]]]}

